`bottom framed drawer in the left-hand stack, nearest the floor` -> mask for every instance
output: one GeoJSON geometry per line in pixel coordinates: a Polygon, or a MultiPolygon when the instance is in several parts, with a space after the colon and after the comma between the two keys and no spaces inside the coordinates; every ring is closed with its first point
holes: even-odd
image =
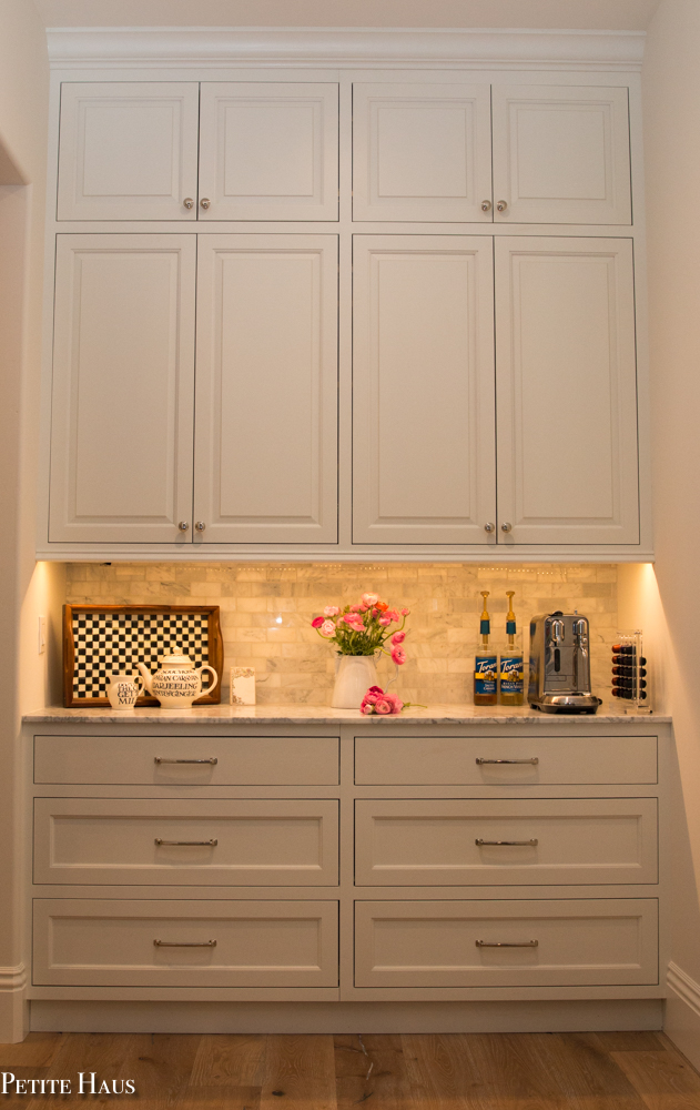
{"type": "Polygon", "coordinates": [[[335,987],[338,981],[334,901],[37,898],[33,936],[33,981],[45,986],[335,987]]]}

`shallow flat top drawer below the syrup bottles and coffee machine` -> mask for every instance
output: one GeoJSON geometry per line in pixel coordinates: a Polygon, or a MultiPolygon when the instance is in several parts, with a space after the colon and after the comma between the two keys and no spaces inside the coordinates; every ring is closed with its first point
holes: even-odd
{"type": "Polygon", "coordinates": [[[358,786],[656,783],[657,737],[356,736],[355,781],[358,786]]]}

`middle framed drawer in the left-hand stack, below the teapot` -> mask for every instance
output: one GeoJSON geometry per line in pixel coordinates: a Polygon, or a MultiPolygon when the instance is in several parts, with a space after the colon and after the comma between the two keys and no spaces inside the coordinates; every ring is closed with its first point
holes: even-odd
{"type": "Polygon", "coordinates": [[[34,881],[334,886],[338,803],[35,798],[34,881]]]}

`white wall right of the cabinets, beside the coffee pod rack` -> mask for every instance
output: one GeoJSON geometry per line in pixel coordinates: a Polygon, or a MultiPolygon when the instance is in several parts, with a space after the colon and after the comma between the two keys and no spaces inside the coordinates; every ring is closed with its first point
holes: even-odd
{"type": "MultiPolygon", "coordinates": [[[[673,848],[671,959],[700,983],[700,3],[661,0],[642,70],[658,627],[668,626],[683,821],[673,848]]],[[[700,988],[671,992],[667,1031],[700,1066],[700,988]]]]}

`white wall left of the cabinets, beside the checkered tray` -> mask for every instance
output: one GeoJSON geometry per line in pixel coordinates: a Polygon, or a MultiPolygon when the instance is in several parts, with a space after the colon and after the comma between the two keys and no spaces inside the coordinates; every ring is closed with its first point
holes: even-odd
{"type": "Polygon", "coordinates": [[[48,119],[45,36],[32,0],[0,0],[0,1041],[21,1039],[24,952],[20,714],[43,690],[21,634],[24,599],[47,609],[54,574],[34,577],[35,467],[48,119]],[[20,649],[20,645],[21,649],[20,649]],[[33,665],[37,677],[31,677],[33,665]]]}

